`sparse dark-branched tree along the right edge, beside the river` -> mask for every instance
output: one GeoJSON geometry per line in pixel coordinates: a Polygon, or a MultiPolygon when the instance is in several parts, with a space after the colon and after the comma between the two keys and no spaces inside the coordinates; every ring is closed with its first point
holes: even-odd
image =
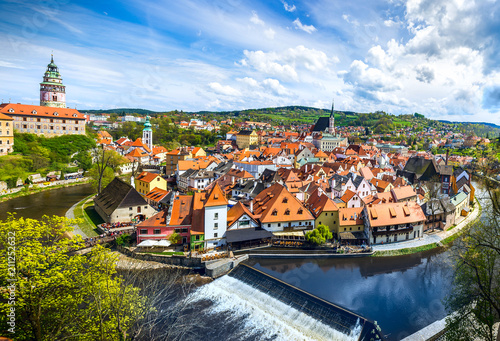
{"type": "MultiPolygon", "coordinates": [[[[497,173],[497,163],[483,168],[497,173]]],[[[446,300],[454,314],[446,321],[446,340],[493,341],[494,324],[500,321],[500,189],[484,178],[487,200],[483,216],[454,247],[453,290],[446,300]]]]}

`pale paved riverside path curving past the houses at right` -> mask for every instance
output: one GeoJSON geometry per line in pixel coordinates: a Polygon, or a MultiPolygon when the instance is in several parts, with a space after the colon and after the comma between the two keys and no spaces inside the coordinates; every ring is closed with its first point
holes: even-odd
{"type": "Polygon", "coordinates": [[[432,243],[438,243],[441,240],[446,239],[449,236],[460,232],[465,226],[467,226],[467,224],[469,222],[474,221],[477,218],[478,214],[479,214],[479,204],[476,200],[476,204],[474,205],[474,210],[471,213],[469,213],[468,216],[460,217],[459,222],[457,223],[457,226],[455,226],[453,229],[451,229],[449,231],[441,231],[441,232],[436,232],[436,233],[432,233],[432,234],[424,234],[424,236],[422,238],[408,240],[408,241],[402,241],[402,242],[390,243],[390,244],[373,245],[372,246],[373,251],[401,250],[401,249],[409,249],[409,248],[429,245],[432,243]]]}

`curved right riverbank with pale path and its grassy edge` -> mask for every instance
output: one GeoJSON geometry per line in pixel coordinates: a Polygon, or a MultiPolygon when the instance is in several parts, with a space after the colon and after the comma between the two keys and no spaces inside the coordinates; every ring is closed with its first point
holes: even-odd
{"type": "Polygon", "coordinates": [[[385,245],[374,245],[372,246],[374,250],[373,257],[409,255],[438,247],[448,246],[465,231],[467,231],[472,224],[480,219],[482,207],[477,198],[475,199],[475,203],[474,209],[469,213],[469,215],[462,219],[462,221],[456,224],[455,227],[433,234],[424,234],[422,238],[417,240],[408,240],[385,245]]]}

